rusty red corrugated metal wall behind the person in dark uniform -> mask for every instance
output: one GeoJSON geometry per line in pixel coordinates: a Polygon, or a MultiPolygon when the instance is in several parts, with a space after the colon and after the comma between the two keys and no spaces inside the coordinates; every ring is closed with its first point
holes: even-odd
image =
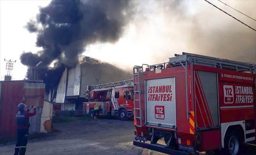
{"type": "Polygon", "coordinates": [[[0,136],[15,136],[17,105],[44,105],[45,84],[41,80],[0,82],[0,136]]]}

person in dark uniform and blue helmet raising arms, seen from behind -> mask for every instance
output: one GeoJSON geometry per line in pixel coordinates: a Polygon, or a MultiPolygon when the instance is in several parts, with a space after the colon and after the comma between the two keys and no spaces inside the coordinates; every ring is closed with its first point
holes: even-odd
{"type": "Polygon", "coordinates": [[[28,143],[28,129],[30,127],[29,117],[37,114],[37,109],[34,105],[31,105],[26,110],[24,103],[19,103],[18,112],[16,114],[16,131],[17,131],[17,143],[15,146],[14,155],[24,155],[28,143]],[[33,108],[33,112],[29,112],[33,108]]]}

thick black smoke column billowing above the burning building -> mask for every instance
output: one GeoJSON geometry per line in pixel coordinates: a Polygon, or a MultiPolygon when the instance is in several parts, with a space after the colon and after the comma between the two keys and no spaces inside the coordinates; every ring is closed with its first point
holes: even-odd
{"type": "Polygon", "coordinates": [[[28,66],[27,77],[33,79],[33,66],[43,61],[37,68],[38,79],[56,85],[64,68],[73,67],[87,45],[117,41],[132,13],[127,0],[52,0],[26,25],[37,33],[36,46],[42,48],[21,54],[22,64],[28,66]],[[54,67],[49,67],[52,63],[54,67]]]}

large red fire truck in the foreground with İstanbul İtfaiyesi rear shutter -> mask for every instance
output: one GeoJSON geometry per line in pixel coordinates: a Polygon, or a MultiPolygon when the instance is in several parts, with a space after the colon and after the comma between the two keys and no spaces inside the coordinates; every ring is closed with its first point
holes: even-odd
{"type": "Polygon", "coordinates": [[[242,143],[255,140],[256,66],[175,56],[133,68],[133,144],[172,155],[242,152],[242,143]]]}

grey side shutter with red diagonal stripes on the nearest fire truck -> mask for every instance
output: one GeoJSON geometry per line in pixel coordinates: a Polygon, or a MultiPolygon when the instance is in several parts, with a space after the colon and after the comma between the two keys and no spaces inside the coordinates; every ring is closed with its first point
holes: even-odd
{"type": "Polygon", "coordinates": [[[216,72],[194,71],[196,128],[219,125],[218,76],[216,72]]]}

